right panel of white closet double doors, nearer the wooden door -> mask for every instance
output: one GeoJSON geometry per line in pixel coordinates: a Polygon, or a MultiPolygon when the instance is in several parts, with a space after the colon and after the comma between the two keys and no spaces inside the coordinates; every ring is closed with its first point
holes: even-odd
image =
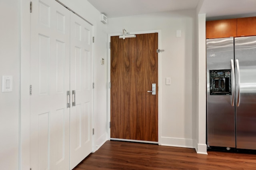
{"type": "Polygon", "coordinates": [[[71,12],[70,91],[76,103],[70,108],[70,169],[92,152],[92,50],[92,26],[71,12]]]}

